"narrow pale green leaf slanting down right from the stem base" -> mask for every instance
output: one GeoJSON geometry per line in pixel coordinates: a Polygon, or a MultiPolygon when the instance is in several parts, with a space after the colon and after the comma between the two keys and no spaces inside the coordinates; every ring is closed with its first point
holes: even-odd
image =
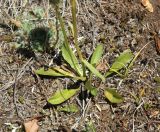
{"type": "Polygon", "coordinates": [[[94,68],[92,64],[88,63],[86,60],[82,60],[82,62],[87,66],[87,68],[93,74],[95,74],[97,77],[101,78],[103,82],[105,81],[105,77],[96,68],[94,68]]]}

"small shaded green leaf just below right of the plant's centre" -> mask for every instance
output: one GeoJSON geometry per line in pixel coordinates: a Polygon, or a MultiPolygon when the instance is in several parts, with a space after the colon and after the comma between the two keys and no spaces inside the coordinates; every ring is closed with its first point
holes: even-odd
{"type": "Polygon", "coordinates": [[[90,81],[87,81],[85,83],[85,88],[93,95],[93,96],[96,96],[98,94],[98,90],[97,88],[93,87],[91,85],[91,82],[90,81]]]}

